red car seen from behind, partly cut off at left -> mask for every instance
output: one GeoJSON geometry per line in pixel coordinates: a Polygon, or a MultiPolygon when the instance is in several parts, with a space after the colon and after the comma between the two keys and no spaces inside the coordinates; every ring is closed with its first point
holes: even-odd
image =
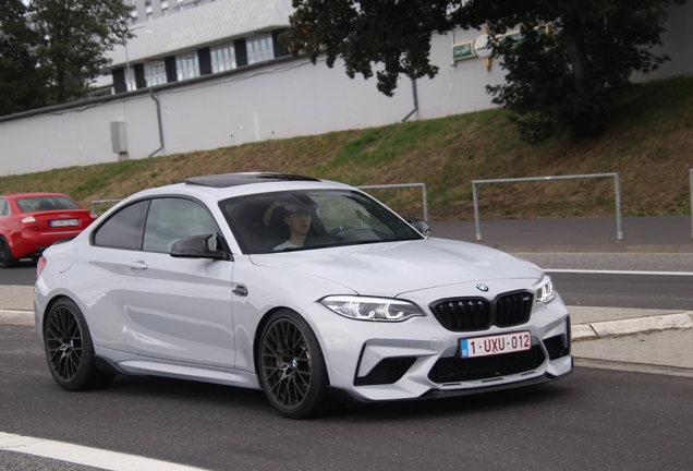
{"type": "Polygon", "coordinates": [[[96,217],[60,193],[0,195],[0,268],[38,259],[53,242],[71,238],[96,217]]]}

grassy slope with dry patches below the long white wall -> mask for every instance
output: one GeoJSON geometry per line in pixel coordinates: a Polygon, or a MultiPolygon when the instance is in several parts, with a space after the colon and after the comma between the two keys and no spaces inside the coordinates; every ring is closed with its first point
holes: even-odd
{"type": "MultiPolygon", "coordinates": [[[[690,214],[693,77],[643,84],[604,135],[530,145],[500,109],[318,136],[0,178],[0,194],[52,191],[85,206],[187,177],[281,171],[353,185],[425,182],[433,220],[473,217],[472,180],[618,172],[624,216],[690,214]]],[[[422,215],[420,189],[372,193],[422,215]]],[[[484,184],[485,218],[603,216],[613,179],[484,184]]]]}

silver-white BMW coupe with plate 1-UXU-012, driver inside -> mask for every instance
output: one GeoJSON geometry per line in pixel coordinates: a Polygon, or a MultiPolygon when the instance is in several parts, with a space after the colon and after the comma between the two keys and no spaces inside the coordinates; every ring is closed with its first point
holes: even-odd
{"type": "Polygon", "coordinates": [[[37,266],[36,328],[66,390],[117,374],[330,397],[436,398],[571,373],[570,319],[537,266],[428,237],[355,188],[196,177],[123,200],[37,266]]]}

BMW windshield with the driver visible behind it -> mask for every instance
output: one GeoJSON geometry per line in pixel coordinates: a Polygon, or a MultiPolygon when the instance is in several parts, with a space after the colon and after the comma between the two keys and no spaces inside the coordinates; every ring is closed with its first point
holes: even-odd
{"type": "Polygon", "coordinates": [[[354,191],[263,193],[219,207],[247,254],[423,239],[381,203],[354,191]]]}

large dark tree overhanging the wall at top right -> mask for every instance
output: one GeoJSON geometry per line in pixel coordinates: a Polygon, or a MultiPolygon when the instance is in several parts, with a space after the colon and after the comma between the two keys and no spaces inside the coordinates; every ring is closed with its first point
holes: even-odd
{"type": "Polygon", "coordinates": [[[628,94],[633,72],[668,58],[661,44],[671,3],[685,0],[293,0],[291,27],[281,36],[294,56],[315,63],[344,60],[349,76],[368,78],[391,96],[400,74],[434,77],[430,37],[454,28],[489,28],[506,84],[487,87],[494,102],[513,111],[523,137],[568,132],[598,134],[613,104],[628,94]],[[554,34],[544,34],[552,25],[554,34]],[[502,37],[520,27],[521,40],[502,37]]]}

